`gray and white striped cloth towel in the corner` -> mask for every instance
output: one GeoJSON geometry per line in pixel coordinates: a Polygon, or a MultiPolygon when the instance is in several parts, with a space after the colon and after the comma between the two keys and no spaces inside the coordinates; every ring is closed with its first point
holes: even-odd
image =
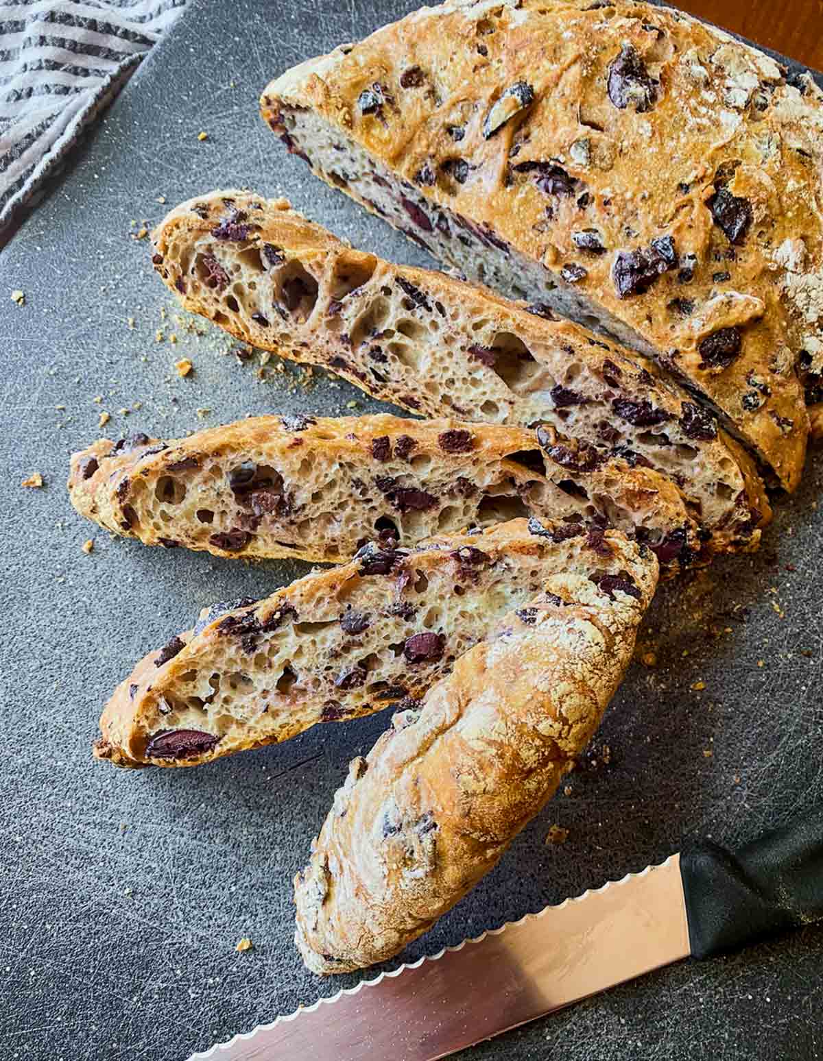
{"type": "Polygon", "coordinates": [[[0,245],[186,0],[0,0],[0,245]]]}

